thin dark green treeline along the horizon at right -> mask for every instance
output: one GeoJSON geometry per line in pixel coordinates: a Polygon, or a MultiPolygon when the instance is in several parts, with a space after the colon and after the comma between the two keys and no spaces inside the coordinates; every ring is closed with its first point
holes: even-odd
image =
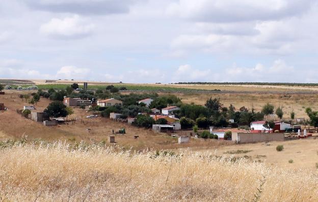
{"type": "Polygon", "coordinates": [[[178,82],[174,84],[201,85],[287,85],[287,86],[318,86],[318,83],[284,83],[284,82],[178,82]]]}

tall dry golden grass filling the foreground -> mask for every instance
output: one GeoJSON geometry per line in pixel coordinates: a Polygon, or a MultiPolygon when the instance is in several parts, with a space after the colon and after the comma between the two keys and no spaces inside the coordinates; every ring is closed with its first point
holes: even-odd
{"type": "Polygon", "coordinates": [[[157,155],[83,142],[22,142],[3,147],[0,162],[4,201],[318,200],[314,174],[211,153],[157,155]]]}

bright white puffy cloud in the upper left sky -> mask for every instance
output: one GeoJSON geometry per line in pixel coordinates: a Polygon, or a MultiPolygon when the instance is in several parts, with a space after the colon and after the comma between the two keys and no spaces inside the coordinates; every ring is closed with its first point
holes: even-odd
{"type": "Polygon", "coordinates": [[[49,22],[42,24],[40,31],[49,36],[65,39],[83,38],[93,32],[94,25],[87,23],[78,15],[63,19],[52,18],[49,22]]]}

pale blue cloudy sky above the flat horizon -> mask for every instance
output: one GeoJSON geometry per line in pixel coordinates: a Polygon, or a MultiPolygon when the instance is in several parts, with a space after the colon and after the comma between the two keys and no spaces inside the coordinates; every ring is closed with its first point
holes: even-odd
{"type": "Polygon", "coordinates": [[[0,78],[318,82],[318,0],[2,0],[0,78]]]}

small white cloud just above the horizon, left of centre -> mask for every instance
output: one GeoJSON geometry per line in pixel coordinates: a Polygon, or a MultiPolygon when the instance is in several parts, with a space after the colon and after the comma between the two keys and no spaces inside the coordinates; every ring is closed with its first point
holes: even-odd
{"type": "Polygon", "coordinates": [[[66,79],[89,79],[90,74],[91,70],[88,68],[64,66],[57,72],[56,77],[66,79]]]}

